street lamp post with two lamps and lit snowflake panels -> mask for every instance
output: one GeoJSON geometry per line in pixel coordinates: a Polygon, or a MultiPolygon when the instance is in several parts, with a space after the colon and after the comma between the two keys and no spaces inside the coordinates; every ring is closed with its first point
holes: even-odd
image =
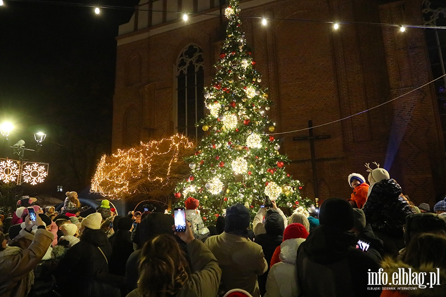
{"type": "MultiPolygon", "coordinates": [[[[0,133],[5,138],[3,144],[6,147],[8,142],[8,136],[11,133],[13,126],[11,123],[3,123],[0,125],[0,133]]],[[[14,153],[19,156],[19,160],[9,160],[0,158],[0,181],[9,183],[16,182],[17,185],[21,185],[22,182],[36,185],[45,180],[48,175],[47,163],[31,163],[25,158],[25,150],[39,152],[42,147],[42,142],[47,135],[43,132],[37,132],[34,134],[34,139],[37,142],[36,149],[25,148],[25,141],[19,140],[15,145],[11,146],[14,149],[14,153]]]]}

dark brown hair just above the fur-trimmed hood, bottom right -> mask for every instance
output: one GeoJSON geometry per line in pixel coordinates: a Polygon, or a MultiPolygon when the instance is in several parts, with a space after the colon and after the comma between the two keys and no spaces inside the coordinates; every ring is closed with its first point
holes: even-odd
{"type": "Polygon", "coordinates": [[[431,264],[446,269],[446,236],[424,233],[415,236],[404,252],[403,262],[414,268],[431,264]]]}

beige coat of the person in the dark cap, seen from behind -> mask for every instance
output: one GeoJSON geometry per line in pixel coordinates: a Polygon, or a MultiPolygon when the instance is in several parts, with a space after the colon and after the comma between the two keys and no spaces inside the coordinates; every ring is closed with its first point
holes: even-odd
{"type": "Polygon", "coordinates": [[[268,269],[262,247],[241,236],[223,232],[206,240],[222,268],[223,290],[243,289],[259,297],[257,276],[268,269]]]}

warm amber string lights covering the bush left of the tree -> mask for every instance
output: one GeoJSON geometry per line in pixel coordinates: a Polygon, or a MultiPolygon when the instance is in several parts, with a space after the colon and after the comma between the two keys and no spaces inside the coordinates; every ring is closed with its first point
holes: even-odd
{"type": "Polygon", "coordinates": [[[91,182],[92,191],[113,199],[167,198],[188,174],[189,165],[182,159],[194,148],[193,142],[176,134],[103,155],[91,182]]]}

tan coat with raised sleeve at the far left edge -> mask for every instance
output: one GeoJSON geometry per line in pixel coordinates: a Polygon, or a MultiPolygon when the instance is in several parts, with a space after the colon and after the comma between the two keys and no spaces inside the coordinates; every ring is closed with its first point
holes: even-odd
{"type": "Polygon", "coordinates": [[[0,297],[24,297],[28,294],[34,276],[30,272],[39,264],[53,239],[50,231],[37,229],[27,249],[6,247],[0,251],[0,297]]]}

